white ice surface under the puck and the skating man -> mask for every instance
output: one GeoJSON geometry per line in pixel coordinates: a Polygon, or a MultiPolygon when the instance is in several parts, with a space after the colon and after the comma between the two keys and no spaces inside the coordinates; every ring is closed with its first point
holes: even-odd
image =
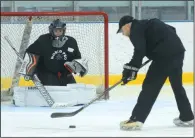
{"type": "MultiPolygon", "coordinates": [[[[186,85],[194,109],[193,86],[186,85]]],[[[47,107],[13,107],[1,105],[1,136],[40,137],[192,137],[193,128],[176,127],[179,116],[170,86],[164,86],[141,131],[122,131],[120,121],[130,117],[141,86],[118,86],[110,92],[110,100],[99,101],[70,118],[50,118],[54,111],[74,111],[79,107],[50,109],[47,107]],[[69,128],[75,125],[76,128],[69,128]]]]}

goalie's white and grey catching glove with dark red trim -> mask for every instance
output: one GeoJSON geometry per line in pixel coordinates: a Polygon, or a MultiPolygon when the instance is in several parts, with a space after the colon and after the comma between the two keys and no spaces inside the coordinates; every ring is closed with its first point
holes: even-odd
{"type": "Polygon", "coordinates": [[[72,62],[65,62],[64,66],[71,73],[78,73],[81,77],[84,77],[88,72],[87,59],[75,59],[72,62]]]}

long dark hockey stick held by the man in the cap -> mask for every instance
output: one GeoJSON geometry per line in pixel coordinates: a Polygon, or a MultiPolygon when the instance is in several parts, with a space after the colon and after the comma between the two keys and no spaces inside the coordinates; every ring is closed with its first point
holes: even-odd
{"type": "MultiPolygon", "coordinates": [[[[141,67],[145,66],[147,63],[149,63],[151,60],[147,60],[146,62],[144,62],[141,67]]],[[[59,117],[72,117],[76,114],[78,114],[79,112],[81,112],[83,109],[87,108],[89,105],[91,105],[92,103],[94,103],[95,101],[99,100],[102,96],[104,96],[104,93],[109,92],[110,90],[112,90],[113,88],[115,88],[116,86],[118,86],[121,82],[123,81],[123,79],[121,79],[120,81],[118,81],[116,84],[114,84],[113,86],[111,86],[110,88],[106,89],[103,94],[99,95],[98,97],[96,97],[95,99],[91,100],[89,103],[85,104],[83,107],[81,107],[80,109],[74,111],[74,112],[69,112],[69,113],[64,113],[64,112],[56,112],[56,113],[52,113],[51,114],[51,118],[59,118],[59,117]]]]}

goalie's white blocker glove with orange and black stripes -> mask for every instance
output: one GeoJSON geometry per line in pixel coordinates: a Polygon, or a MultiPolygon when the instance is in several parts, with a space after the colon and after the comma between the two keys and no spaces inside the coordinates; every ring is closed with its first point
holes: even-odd
{"type": "Polygon", "coordinates": [[[19,74],[24,75],[25,80],[32,79],[39,61],[39,57],[40,56],[32,53],[25,53],[22,66],[19,71],[19,74]]]}

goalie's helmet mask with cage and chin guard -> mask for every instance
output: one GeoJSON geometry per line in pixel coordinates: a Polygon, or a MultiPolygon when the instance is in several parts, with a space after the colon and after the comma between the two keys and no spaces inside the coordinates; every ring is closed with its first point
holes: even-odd
{"type": "Polygon", "coordinates": [[[60,19],[54,20],[49,26],[49,33],[53,37],[52,46],[61,48],[68,40],[65,37],[66,24],[61,22],[60,19]]]}

